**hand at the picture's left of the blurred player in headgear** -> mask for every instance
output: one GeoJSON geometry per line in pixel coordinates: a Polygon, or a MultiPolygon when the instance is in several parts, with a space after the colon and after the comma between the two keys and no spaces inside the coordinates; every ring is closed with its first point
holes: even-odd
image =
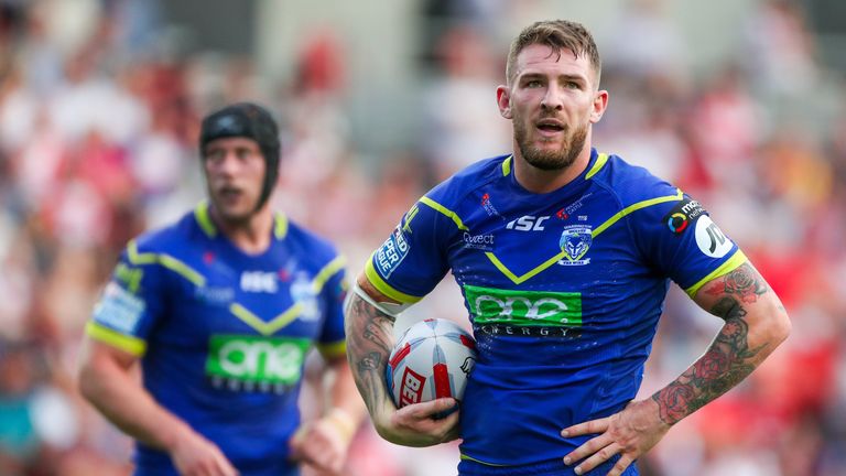
{"type": "Polygon", "coordinates": [[[184,432],[171,448],[176,470],[184,476],[238,476],[220,448],[198,433],[184,432]]]}

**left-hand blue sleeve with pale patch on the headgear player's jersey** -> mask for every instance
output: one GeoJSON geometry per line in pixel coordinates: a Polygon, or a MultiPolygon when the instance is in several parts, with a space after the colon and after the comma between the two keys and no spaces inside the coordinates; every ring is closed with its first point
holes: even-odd
{"type": "Polygon", "coordinates": [[[86,334],[135,356],[143,356],[147,339],[164,309],[164,279],[154,253],[127,246],[109,282],[94,306],[86,334]]]}

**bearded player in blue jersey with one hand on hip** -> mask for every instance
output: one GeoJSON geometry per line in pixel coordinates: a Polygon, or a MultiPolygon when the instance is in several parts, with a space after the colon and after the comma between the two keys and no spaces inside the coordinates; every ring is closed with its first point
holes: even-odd
{"type": "Polygon", "coordinates": [[[347,305],[350,367],[382,437],[462,439],[460,475],[637,475],[634,461],[745,379],[790,321],[697,201],[593,147],[609,94],[583,25],[524,29],[497,104],[512,152],[410,204],[375,250],[347,305]],[[478,360],[460,402],[398,410],[384,380],[395,316],[447,271],[478,360]],[[671,281],[724,325],[682,375],[634,400],[671,281]]]}

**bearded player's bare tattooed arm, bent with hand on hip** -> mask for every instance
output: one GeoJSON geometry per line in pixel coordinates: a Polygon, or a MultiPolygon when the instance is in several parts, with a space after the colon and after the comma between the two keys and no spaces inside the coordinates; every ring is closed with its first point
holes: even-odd
{"type": "Polygon", "coordinates": [[[790,334],[776,293],[749,263],[706,283],[694,301],[725,324],[707,351],[651,398],[621,412],[564,429],[563,436],[599,433],[564,457],[583,474],[620,454],[609,476],[620,475],[670,428],[745,379],[790,334]]]}

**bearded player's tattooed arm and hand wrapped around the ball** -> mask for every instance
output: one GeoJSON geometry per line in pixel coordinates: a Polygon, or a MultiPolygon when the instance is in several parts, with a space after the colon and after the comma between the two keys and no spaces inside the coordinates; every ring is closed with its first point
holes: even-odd
{"type": "MultiPolygon", "coordinates": [[[[377,303],[395,302],[376,290],[364,274],[358,278],[358,285],[377,303]]],[[[397,410],[388,394],[384,372],[393,347],[393,322],[392,316],[350,293],[345,318],[347,359],[377,432],[405,446],[431,446],[455,440],[458,412],[435,419],[455,407],[454,399],[437,399],[397,410]]]]}

